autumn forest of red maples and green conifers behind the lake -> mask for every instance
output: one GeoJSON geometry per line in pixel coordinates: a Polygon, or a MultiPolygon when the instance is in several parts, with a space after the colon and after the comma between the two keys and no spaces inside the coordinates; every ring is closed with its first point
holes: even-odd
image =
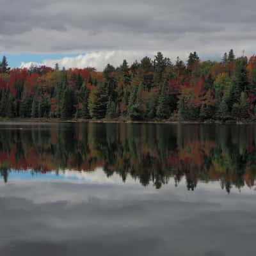
{"type": "Polygon", "coordinates": [[[221,61],[188,60],[157,52],[154,60],[103,72],[83,69],[10,68],[0,61],[0,116],[60,120],[253,122],[256,120],[256,56],[221,61]]]}

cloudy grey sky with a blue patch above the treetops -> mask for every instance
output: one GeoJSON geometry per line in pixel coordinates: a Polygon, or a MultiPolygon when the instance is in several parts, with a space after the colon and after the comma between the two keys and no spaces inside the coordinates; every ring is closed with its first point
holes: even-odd
{"type": "Polygon", "coordinates": [[[131,64],[157,51],[219,60],[255,53],[255,0],[0,0],[0,55],[67,68],[131,64]],[[22,10],[22,12],[20,12],[22,10]]]}

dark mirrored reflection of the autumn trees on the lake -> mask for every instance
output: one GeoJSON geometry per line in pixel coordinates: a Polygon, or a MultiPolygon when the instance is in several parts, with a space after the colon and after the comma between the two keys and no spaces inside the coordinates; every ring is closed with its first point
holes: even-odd
{"type": "Polygon", "coordinates": [[[218,180],[230,193],[254,186],[255,141],[255,125],[1,124],[0,172],[8,182],[17,171],[68,177],[100,168],[157,189],[170,179],[189,190],[218,180]]]}

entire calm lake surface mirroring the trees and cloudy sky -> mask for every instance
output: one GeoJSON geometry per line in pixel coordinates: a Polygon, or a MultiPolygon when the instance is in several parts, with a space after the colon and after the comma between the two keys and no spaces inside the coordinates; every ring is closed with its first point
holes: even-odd
{"type": "Polygon", "coordinates": [[[0,124],[0,255],[252,255],[256,125],[0,124]]]}

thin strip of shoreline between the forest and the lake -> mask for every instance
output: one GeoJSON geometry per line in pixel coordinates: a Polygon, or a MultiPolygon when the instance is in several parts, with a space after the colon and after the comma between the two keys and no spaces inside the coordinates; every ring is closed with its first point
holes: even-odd
{"type": "Polygon", "coordinates": [[[125,120],[125,119],[101,119],[101,120],[92,120],[92,119],[69,119],[69,120],[61,120],[60,118],[0,118],[0,123],[8,123],[8,122],[24,122],[24,123],[99,123],[99,124],[220,124],[220,125],[227,125],[227,124],[236,124],[236,125],[243,125],[243,124],[256,124],[255,121],[234,121],[234,120],[227,120],[226,122],[221,121],[170,121],[170,120],[141,120],[141,121],[132,121],[132,120],[125,120]]]}

